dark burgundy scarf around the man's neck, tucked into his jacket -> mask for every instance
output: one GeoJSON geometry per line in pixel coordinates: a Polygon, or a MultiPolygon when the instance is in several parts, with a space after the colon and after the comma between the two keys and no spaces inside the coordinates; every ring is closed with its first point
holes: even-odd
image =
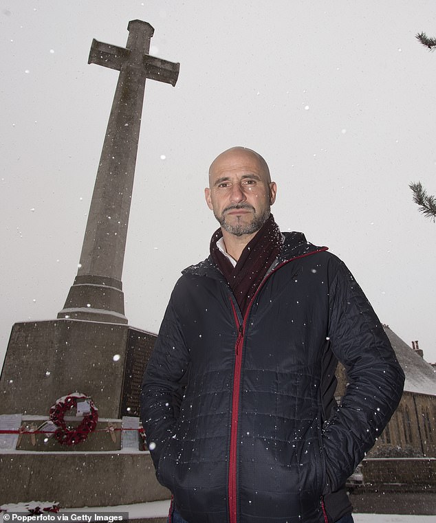
{"type": "Polygon", "coordinates": [[[279,256],[283,243],[282,235],[274,217],[270,214],[256,236],[243,249],[236,267],[233,267],[230,260],[217,247],[217,241],[222,236],[221,228],[212,234],[210,255],[224,274],[244,314],[268,269],[279,256]]]}

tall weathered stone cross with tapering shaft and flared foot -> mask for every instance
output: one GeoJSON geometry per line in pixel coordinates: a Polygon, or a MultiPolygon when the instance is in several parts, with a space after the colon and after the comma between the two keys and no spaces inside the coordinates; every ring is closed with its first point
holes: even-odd
{"type": "Polygon", "coordinates": [[[88,63],[120,71],[98,166],[82,254],[58,318],[127,323],[122,265],[147,78],[175,85],[179,64],[148,54],[154,29],[133,20],[126,47],[92,41],[88,63]]]}

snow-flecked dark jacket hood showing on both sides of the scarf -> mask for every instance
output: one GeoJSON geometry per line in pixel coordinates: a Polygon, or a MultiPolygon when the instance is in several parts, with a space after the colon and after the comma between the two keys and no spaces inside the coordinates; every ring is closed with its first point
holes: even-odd
{"type": "MultiPolygon", "coordinates": [[[[307,256],[319,251],[327,251],[328,247],[318,247],[313,243],[306,240],[303,232],[282,232],[283,245],[279,257],[273,266],[279,265],[292,260],[292,258],[299,258],[300,256],[307,256]]],[[[208,256],[206,260],[197,263],[197,265],[190,265],[182,271],[182,274],[193,274],[195,276],[211,276],[217,277],[217,266],[212,260],[211,256],[208,256]]],[[[221,274],[221,273],[219,273],[221,274]]]]}

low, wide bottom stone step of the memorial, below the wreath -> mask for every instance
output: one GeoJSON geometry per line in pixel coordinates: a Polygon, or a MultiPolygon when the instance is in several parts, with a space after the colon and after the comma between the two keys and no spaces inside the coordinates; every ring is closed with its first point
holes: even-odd
{"type": "Polygon", "coordinates": [[[7,485],[0,504],[47,500],[63,508],[168,500],[148,452],[17,452],[0,454],[7,485]]]}

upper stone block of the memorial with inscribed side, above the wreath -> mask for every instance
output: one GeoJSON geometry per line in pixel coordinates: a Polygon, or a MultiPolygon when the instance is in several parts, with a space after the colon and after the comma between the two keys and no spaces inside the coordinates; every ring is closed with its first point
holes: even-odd
{"type": "Polygon", "coordinates": [[[56,399],[89,395],[104,418],[139,416],[155,335],[80,320],[16,323],[0,378],[0,414],[48,415],[56,399]]]}

